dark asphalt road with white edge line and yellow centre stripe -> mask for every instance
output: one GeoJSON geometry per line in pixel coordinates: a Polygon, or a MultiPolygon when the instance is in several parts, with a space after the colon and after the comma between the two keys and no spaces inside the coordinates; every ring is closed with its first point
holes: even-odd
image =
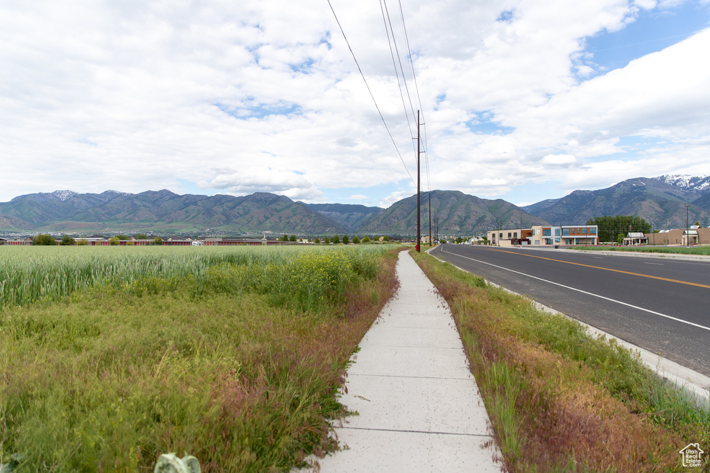
{"type": "Polygon", "coordinates": [[[710,261],[453,244],[432,255],[710,376],[710,261]]]}

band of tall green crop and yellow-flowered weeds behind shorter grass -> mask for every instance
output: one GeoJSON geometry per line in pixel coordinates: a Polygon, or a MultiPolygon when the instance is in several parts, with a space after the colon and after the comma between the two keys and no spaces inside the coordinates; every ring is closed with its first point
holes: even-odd
{"type": "Polygon", "coordinates": [[[342,293],[353,276],[371,277],[375,266],[367,255],[382,248],[9,246],[0,249],[0,308],[49,303],[99,286],[141,292],[146,281],[175,283],[186,277],[200,293],[208,273],[219,279],[225,268],[231,268],[226,277],[239,276],[235,285],[279,296],[295,288],[302,305],[309,306],[328,290],[342,293]]]}

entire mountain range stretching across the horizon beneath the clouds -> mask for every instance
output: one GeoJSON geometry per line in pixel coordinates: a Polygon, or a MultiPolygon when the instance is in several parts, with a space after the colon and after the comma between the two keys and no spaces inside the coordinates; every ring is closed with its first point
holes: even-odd
{"type": "MultiPolygon", "coordinates": [[[[305,204],[256,192],[231,195],[178,195],[169,190],[138,194],[69,190],[20,195],[0,203],[0,232],[160,232],[163,234],[415,234],[416,195],[386,209],[348,204],[305,204]]],[[[517,207],[456,190],[421,196],[422,234],[483,234],[496,227],[531,224],[584,224],[601,215],[643,217],[654,228],[710,224],[710,176],[663,175],[635,178],[601,190],[575,190],[552,200],[517,207]]]]}

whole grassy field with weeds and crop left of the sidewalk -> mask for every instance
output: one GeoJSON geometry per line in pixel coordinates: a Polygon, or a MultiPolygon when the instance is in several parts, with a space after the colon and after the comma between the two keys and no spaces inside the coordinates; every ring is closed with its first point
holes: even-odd
{"type": "Polygon", "coordinates": [[[332,450],[395,262],[384,246],[3,249],[0,463],[152,472],[186,452],[264,472],[332,450]]]}

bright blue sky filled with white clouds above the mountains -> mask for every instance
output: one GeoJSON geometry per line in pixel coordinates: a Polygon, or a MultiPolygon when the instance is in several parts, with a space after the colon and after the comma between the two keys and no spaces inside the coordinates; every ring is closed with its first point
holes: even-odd
{"type": "Polygon", "coordinates": [[[708,51],[710,0],[4,0],[0,202],[388,207],[417,189],[417,110],[422,191],[708,175],[708,51]]]}

